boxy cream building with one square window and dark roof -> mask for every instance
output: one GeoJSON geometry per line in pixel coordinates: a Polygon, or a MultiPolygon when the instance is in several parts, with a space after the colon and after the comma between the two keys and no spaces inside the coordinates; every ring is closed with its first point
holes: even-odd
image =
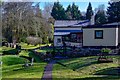
{"type": "Polygon", "coordinates": [[[111,47],[120,45],[120,22],[83,27],[83,47],[111,47]]]}

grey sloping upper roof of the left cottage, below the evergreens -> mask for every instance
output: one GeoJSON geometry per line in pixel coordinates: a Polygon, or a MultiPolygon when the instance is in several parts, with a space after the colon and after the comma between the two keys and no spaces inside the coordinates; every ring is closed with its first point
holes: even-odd
{"type": "Polygon", "coordinates": [[[89,20],[56,20],[54,23],[54,27],[77,27],[87,26],[89,24],[89,20]]]}

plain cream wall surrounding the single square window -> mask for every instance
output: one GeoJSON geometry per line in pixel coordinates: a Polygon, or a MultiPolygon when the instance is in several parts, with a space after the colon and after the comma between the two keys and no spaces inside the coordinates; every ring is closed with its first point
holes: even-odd
{"type": "Polygon", "coordinates": [[[117,46],[117,28],[87,28],[83,29],[83,46],[117,46]],[[103,39],[95,39],[95,30],[103,30],[103,39]]]}

